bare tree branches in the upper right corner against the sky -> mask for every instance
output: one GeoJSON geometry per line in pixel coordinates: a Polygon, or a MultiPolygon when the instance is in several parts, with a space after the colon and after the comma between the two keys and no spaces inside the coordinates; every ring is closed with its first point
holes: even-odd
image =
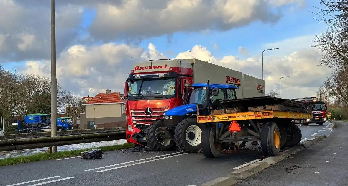
{"type": "Polygon", "coordinates": [[[318,8],[314,13],[319,22],[324,22],[328,28],[316,36],[313,47],[323,55],[319,65],[327,67],[344,67],[348,64],[348,1],[347,0],[320,0],[324,8],[318,8]]]}

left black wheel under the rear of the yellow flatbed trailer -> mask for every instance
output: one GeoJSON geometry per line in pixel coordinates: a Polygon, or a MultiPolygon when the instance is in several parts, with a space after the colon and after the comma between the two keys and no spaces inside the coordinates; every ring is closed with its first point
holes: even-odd
{"type": "Polygon", "coordinates": [[[222,150],[222,144],[215,144],[216,126],[204,127],[201,137],[202,153],[205,157],[218,157],[222,150]]]}

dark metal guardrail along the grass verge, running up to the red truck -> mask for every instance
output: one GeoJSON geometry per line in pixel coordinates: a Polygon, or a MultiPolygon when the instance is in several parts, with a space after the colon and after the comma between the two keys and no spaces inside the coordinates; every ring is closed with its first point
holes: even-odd
{"type": "Polygon", "coordinates": [[[57,137],[38,137],[0,140],[0,152],[62,145],[84,144],[98,141],[126,139],[126,130],[96,134],[76,134],[57,137]]]}

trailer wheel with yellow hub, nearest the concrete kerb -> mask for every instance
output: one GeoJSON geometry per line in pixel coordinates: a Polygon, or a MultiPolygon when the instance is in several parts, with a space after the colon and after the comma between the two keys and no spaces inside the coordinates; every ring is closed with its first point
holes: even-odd
{"type": "Polygon", "coordinates": [[[280,150],[280,132],[276,123],[266,122],[261,126],[260,144],[265,156],[277,156],[280,150]]]}

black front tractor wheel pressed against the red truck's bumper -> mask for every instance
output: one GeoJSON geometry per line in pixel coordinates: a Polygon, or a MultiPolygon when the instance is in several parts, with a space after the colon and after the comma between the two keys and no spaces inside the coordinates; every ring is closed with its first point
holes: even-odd
{"type": "Polygon", "coordinates": [[[155,121],[148,127],[145,134],[147,146],[156,151],[174,150],[173,140],[161,138],[161,127],[164,127],[164,121],[155,121]]]}

